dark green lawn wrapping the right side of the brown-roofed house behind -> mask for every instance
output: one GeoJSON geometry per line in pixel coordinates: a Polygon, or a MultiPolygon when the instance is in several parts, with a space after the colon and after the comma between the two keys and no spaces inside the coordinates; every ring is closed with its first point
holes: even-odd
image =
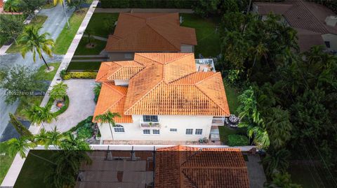
{"type": "Polygon", "coordinates": [[[193,14],[180,14],[183,16],[183,27],[192,27],[197,34],[198,45],[195,46],[194,55],[198,57],[199,54],[204,57],[216,57],[220,54],[220,35],[216,31],[215,19],[201,18],[193,14]]]}

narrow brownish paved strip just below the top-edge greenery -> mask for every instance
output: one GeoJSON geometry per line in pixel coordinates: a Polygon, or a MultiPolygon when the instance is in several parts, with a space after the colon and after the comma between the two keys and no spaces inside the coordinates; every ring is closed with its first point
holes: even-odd
{"type": "Polygon", "coordinates": [[[96,8],[95,13],[194,13],[187,8],[96,8]]]}

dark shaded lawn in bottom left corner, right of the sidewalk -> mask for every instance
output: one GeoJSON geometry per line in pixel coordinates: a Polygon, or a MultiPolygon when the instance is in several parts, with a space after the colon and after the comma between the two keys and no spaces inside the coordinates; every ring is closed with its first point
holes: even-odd
{"type": "MultiPolygon", "coordinates": [[[[49,150],[30,150],[34,154],[51,159],[53,151],[49,150]]],[[[30,153],[29,152],[29,153],[30,153]]],[[[38,157],[28,154],[25,164],[23,164],[18,180],[16,180],[14,187],[20,188],[35,188],[35,187],[48,187],[44,183],[44,177],[48,172],[48,162],[38,157]]]]}

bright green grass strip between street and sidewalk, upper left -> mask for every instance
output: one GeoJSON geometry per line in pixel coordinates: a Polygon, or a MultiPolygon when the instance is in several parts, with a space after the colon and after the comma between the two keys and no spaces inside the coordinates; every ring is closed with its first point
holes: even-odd
{"type": "Polygon", "coordinates": [[[81,26],[81,23],[86,16],[87,10],[88,8],[86,8],[85,11],[72,14],[69,19],[70,29],[67,29],[67,24],[65,24],[65,27],[55,41],[55,46],[53,48],[55,54],[65,55],[65,53],[67,53],[74,36],[77,34],[77,30],[79,30],[79,26],[81,26]]]}

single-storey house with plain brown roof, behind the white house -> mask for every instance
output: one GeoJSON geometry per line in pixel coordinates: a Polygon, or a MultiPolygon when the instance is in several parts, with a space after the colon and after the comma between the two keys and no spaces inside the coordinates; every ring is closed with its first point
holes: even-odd
{"type": "Polygon", "coordinates": [[[178,13],[120,13],[105,51],[110,60],[132,60],[135,52],[194,52],[195,30],[180,27],[178,13]]]}

